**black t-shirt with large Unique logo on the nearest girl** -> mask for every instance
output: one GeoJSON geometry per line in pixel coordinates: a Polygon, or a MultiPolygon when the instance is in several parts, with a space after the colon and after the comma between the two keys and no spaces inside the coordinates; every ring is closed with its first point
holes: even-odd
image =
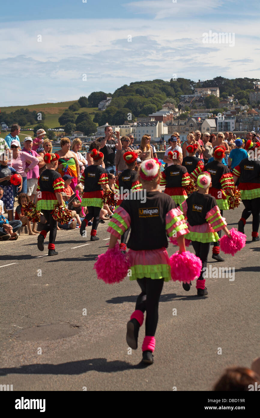
{"type": "Polygon", "coordinates": [[[175,209],[170,196],[159,191],[146,191],[146,202],[123,200],[122,208],[131,218],[131,234],[127,244],[131,250],[155,250],[168,247],[166,214],[175,209]]]}

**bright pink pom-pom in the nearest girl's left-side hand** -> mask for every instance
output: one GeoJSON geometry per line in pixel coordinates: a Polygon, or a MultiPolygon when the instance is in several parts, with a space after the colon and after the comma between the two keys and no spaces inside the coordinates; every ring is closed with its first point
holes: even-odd
{"type": "Polygon", "coordinates": [[[99,280],[105,283],[120,283],[126,277],[130,269],[130,263],[126,254],[119,250],[119,243],[114,248],[108,249],[105,254],[98,255],[93,267],[99,280]]]}

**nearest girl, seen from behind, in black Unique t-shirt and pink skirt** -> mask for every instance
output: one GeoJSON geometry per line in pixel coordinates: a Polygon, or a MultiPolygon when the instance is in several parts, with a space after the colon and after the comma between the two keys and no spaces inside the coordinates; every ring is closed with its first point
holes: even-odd
{"type": "MultiPolygon", "coordinates": [[[[155,331],[158,322],[158,305],[164,281],[171,280],[171,267],[167,253],[169,237],[177,237],[180,252],[185,251],[184,235],[188,229],[184,216],[176,203],[157,186],[161,173],[155,160],[141,163],[139,181],[146,191],[146,201],[141,199],[123,200],[109,222],[111,233],[109,248],[131,226],[127,243],[131,266],[130,280],[137,280],[141,294],[136,309],[127,324],[126,341],[129,347],[137,348],[139,328],[146,311],[145,338],[142,345],[143,362],[153,363],[155,331]]],[[[120,266],[119,266],[120,268],[120,266]]]]}

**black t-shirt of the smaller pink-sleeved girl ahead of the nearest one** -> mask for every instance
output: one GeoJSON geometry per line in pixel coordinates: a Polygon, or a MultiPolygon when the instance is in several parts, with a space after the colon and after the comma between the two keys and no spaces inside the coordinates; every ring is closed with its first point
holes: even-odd
{"type": "Polygon", "coordinates": [[[207,212],[217,205],[215,197],[211,196],[211,194],[201,194],[197,191],[189,195],[186,203],[188,207],[187,218],[192,227],[207,222],[205,219],[207,212]]]}

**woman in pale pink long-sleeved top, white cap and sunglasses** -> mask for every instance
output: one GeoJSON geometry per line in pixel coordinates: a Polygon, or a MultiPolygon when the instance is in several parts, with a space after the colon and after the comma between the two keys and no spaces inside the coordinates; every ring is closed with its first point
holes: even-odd
{"type": "MultiPolygon", "coordinates": [[[[22,189],[18,192],[20,193],[27,193],[27,173],[32,168],[37,166],[39,163],[38,158],[33,157],[33,155],[30,155],[26,153],[25,151],[21,151],[20,144],[17,140],[13,140],[10,145],[11,151],[13,152],[12,157],[12,167],[15,168],[15,170],[23,177],[23,186],[22,189]],[[30,163],[30,166],[25,168],[25,163],[30,163]]],[[[17,186],[13,185],[13,197],[15,198],[17,191],[17,186]]]]}

